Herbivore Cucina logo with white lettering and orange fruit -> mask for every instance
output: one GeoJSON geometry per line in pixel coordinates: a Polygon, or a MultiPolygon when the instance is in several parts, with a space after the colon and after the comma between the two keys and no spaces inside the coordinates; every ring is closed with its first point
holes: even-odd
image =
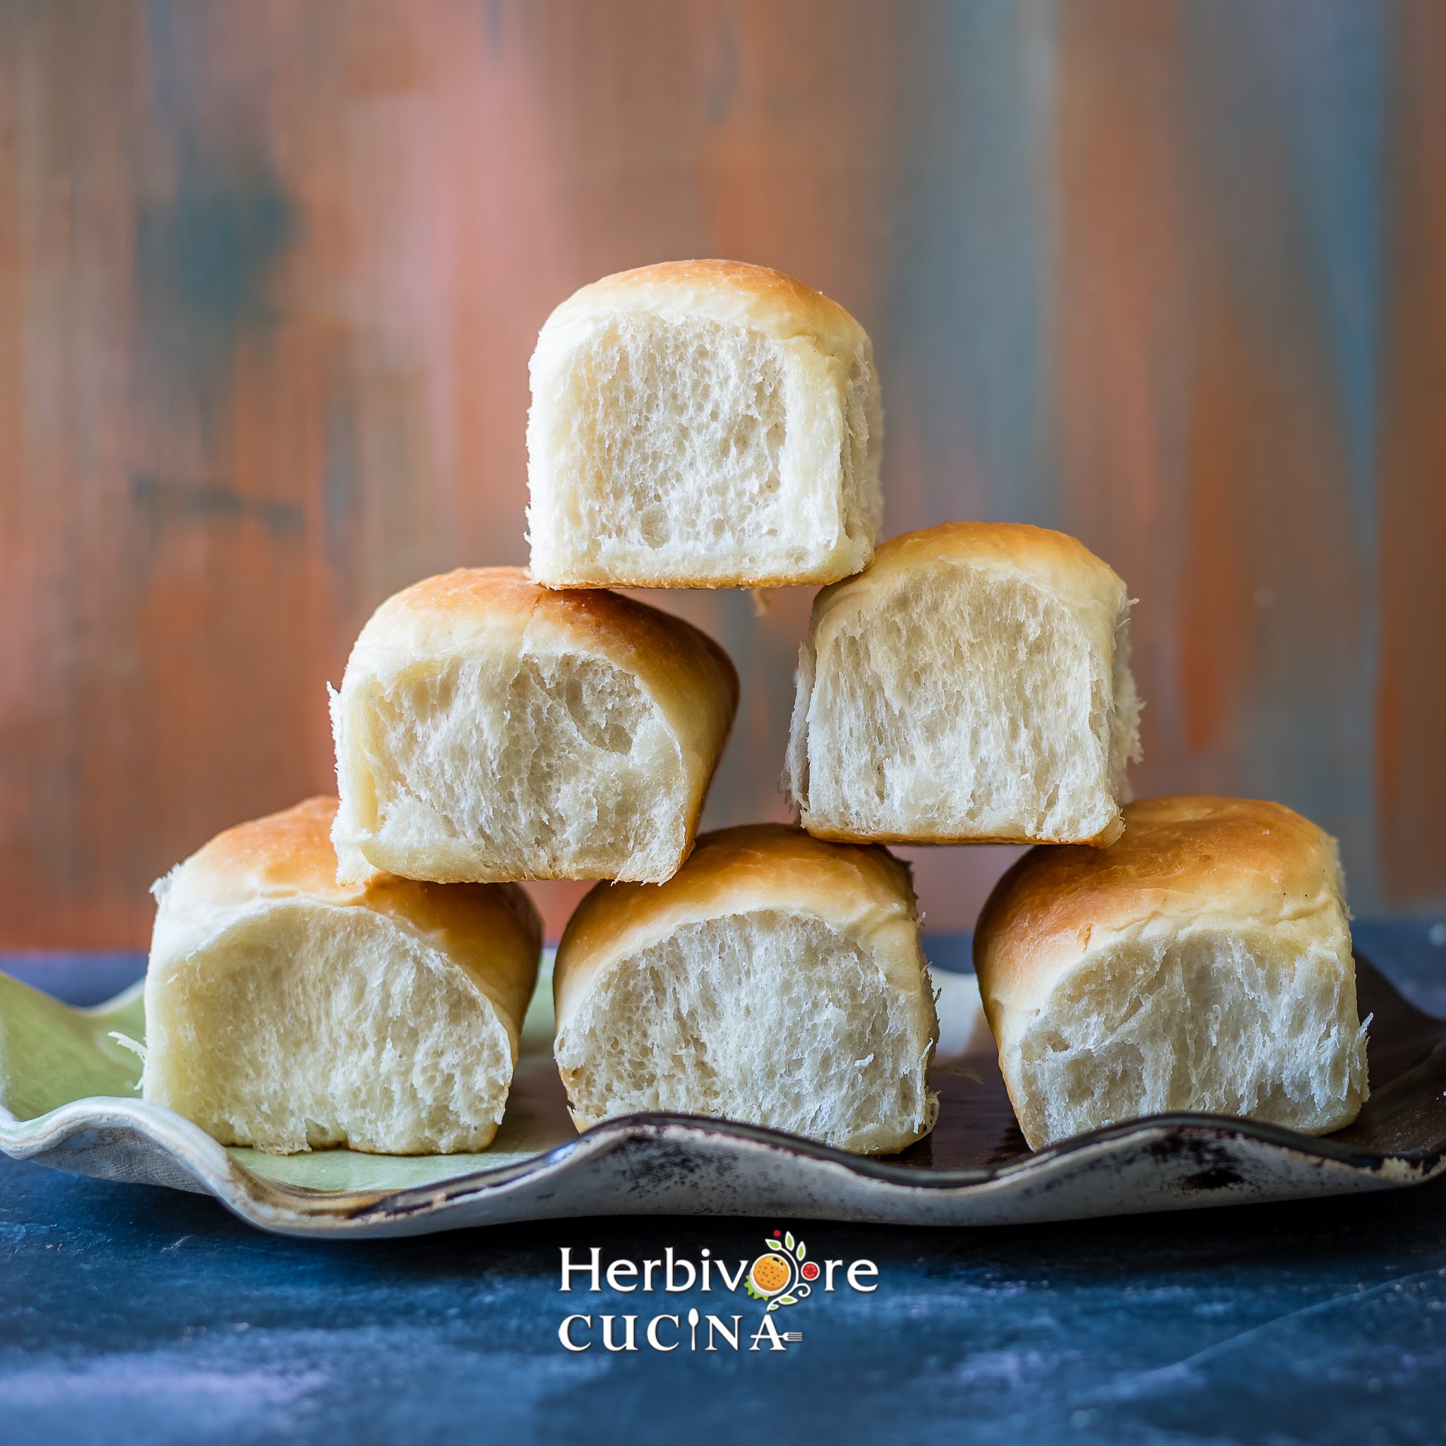
{"type": "MultiPolygon", "coordinates": [[[[765,1238],[763,1252],[755,1259],[746,1255],[727,1261],[704,1246],[697,1259],[680,1257],[667,1246],[655,1259],[619,1259],[603,1264],[603,1252],[594,1245],[587,1259],[574,1259],[570,1246],[562,1246],[562,1280],[558,1288],[565,1294],[586,1291],[600,1296],[603,1290],[620,1296],[661,1293],[683,1296],[697,1290],[704,1294],[739,1294],[761,1301],[762,1313],[709,1312],[696,1306],[687,1312],[603,1313],[574,1312],[564,1316],[557,1327],[557,1339],[567,1351],[787,1351],[790,1343],[803,1340],[801,1330],[779,1330],[778,1316],[784,1307],[797,1306],[818,1291],[853,1290],[872,1294],[878,1290],[879,1268],[873,1261],[816,1261],[792,1231],[774,1231],[765,1238]]],[[[662,1304],[659,1301],[658,1304],[662,1304]]],[[[732,1301],[730,1301],[732,1304],[732,1301]]]]}

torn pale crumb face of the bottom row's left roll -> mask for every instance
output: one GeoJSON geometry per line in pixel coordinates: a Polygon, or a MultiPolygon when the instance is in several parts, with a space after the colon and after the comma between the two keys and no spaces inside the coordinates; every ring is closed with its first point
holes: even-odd
{"type": "Polygon", "coordinates": [[[516,1041],[467,970],[393,920],[270,904],[163,967],[145,1098],[223,1144],[429,1154],[496,1134],[516,1041]]]}

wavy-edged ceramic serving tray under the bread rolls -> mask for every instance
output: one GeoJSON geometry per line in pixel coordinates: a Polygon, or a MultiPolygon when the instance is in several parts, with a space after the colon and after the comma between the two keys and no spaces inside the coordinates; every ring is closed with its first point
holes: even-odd
{"type": "Polygon", "coordinates": [[[0,975],[0,1150],[107,1180],[214,1194],[286,1235],[418,1235],[581,1215],[766,1215],[1009,1225],[1419,1184],[1446,1170],[1446,1021],[1358,956],[1371,1100],[1310,1138],[1213,1115],[1158,1115],[1031,1154],[970,975],[936,973],[934,1132],[862,1158],[794,1135],[635,1115],[578,1135],[551,1056],[551,988],[528,1014],[508,1113],[471,1155],[268,1155],[218,1145],[137,1096],[140,986],[74,1009],[0,975]]]}

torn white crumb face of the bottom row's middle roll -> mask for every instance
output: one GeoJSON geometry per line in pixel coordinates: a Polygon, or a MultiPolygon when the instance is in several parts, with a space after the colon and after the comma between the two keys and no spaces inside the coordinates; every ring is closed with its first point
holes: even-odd
{"type": "Polygon", "coordinates": [[[758,910],[610,964],[557,1060],[580,1129],[675,1111],[885,1152],[933,1126],[931,1031],[931,1002],[905,998],[866,947],[814,915],[758,910]]]}

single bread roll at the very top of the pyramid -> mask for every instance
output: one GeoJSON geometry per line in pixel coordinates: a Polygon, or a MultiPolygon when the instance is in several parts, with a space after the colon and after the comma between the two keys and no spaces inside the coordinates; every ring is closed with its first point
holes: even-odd
{"type": "Polygon", "coordinates": [[[868,334],[739,262],[607,276],[532,354],[532,577],[551,587],[831,583],[878,536],[868,334]]]}

